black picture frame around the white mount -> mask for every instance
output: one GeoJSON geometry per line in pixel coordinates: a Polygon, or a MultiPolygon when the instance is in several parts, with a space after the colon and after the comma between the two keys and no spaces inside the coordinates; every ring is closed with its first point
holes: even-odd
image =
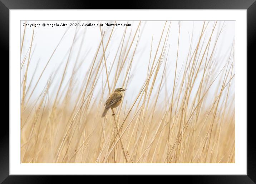
{"type": "MultiPolygon", "coordinates": [[[[110,1],[82,1],[82,0],[0,0],[0,42],[2,51],[2,71],[7,70],[9,65],[9,10],[11,9],[247,9],[247,64],[248,61],[254,63],[256,61],[255,45],[256,40],[256,0],[151,0],[151,1],[129,1],[125,6],[120,3],[110,1]],[[6,56],[6,59],[3,59],[6,56]],[[3,64],[7,66],[4,66],[3,64]]],[[[254,67],[250,67],[253,70],[254,67]]],[[[248,68],[249,69],[249,68],[248,68]]],[[[3,75],[2,82],[6,82],[6,74],[3,75]]],[[[247,71],[247,78],[254,80],[253,74],[247,71]]],[[[8,80],[9,82],[9,80],[8,80]]],[[[253,87],[255,82],[251,82],[253,87]]],[[[9,83],[8,83],[9,86],[9,83]]],[[[7,88],[7,87],[6,87],[7,88]]],[[[248,89],[247,89],[248,90],[248,89]]],[[[8,91],[9,96],[9,90],[8,91]]],[[[248,91],[247,91],[248,92],[248,91]]],[[[247,95],[250,103],[255,102],[255,94],[253,92],[247,95]]],[[[10,98],[10,97],[9,97],[10,98]]],[[[7,98],[5,98],[7,99],[7,98]]],[[[2,103],[5,103],[2,99],[2,103]]],[[[8,105],[9,106],[9,105],[8,105]]],[[[2,106],[3,107],[3,106],[2,106]]],[[[5,106],[6,109],[6,106],[5,106]]],[[[252,114],[255,108],[248,108],[247,114],[252,114]],[[248,113],[249,112],[249,113],[248,113]]],[[[9,119],[9,117],[8,117],[9,119]]],[[[244,122],[247,123],[247,122],[244,122]]],[[[256,183],[256,142],[255,130],[253,129],[254,122],[247,123],[247,175],[211,175],[211,176],[171,176],[177,178],[179,182],[191,183],[256,183]]],[[[0,183],[52,183],[56,178],[58,182],[71,182],[65,176],[15,176],[9,175],[9,124],[7,121],[1,121],[0,128],[0,183]]],[[[83,177],[83,176],[81,176],[83,177]]],[[[151,178],[151,177],[148,177],[151,178]]],[[[119,180],[120,181],[120,180],[119,180]]],[[[132,179],[125,180],[126,182],[134,182],[132,179]]],[[[158,181],[159,182],[159,181],[158,181]]]]}

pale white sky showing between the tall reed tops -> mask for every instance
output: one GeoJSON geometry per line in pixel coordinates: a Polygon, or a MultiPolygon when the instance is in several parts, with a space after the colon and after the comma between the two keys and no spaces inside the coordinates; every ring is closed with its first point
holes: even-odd
{"type": "MultiPolygon", "coordinates": [[[[42,24],[61,24],[61,23],[77,23],[78,21],[36,21],[36,23],[42,25],[42,24]]],[[[98,21],[81,21],[80,24],[83,23],[98,23],[98,21]]],[[[113,21],[103,21],[102,23],[110,23],[113,21]]],[[[23,36],[24,32],[24,26],[23,23],[25,21],[21,21],[21,38],[23,36]]],[[[27,21],[27,24],[33,24],[34,21],[27,21]]],[[[117,21],[118,24],[126,24],[127,21],[117,21]]],[[[131,32],[131,38],[129,43],[131,42],[131,39],[134,35],[134,32],[136,31],[139,21],[129,21],[129,24],[131,26],[127,27],[127,35],[125,36],[126,40],[129,37],[129,34],[131,32]]],[[[149,61],[149,53],[151,48],[151,40],[153,35],[153,46],[152,46],[152,57],[154,56],[156,52],[156,48],[159,42],[159,39],[162,34],[162,30],[164,27],[165,21],[142,21],[141,22],[141,29],[140,29],[140,39],[137,46],[136,53],[133,58],[133,65],[131,74],[133,74],[133,78],[131,78],[131,82],[128,86],[129,93],[127,92],[125,95],[127,97],[134,97],[138,91],[140,90],[139,87],[142,86],[143,82],[146,79],[147,75],[147,66],[149,61]]],[[[213,28],[214,21],[211,21],[206,29],[206,40],[209,38],[212,28],[213,28]]],[[[223,24],[223,21],[219,21],[215,34],[213,34],[213,40],[215,40],[217,32],[220,30],[221,26],[223,24]]],[[[164,31],[164,36],[162,39],[162,42],[164,41],[167,29],[169,26],[169,21],[166,24],[166,28],[164,31]]],[[[178,52],[178,65],[177,65],[177,71],[181,70],[183,62],[186,62],[188,49],[189,49],[189,41],[192,36],[193,32],[193,48],[195,48],[195,44],[197,43],[201,30],[203,26],[203,21],[181,21],[180,24],[180,40],[179,40],[179,52],[178,52]]],[[[46,62],[49,60],[51,53],[53,52],[54,48],[58,44],[59,40],[63,36],[63,33],[67,29],[66,26],[37,26],[35,27],[35,39],[33,41],[33,48],[32,52],[33,55],[31,57],[31,62],[29,65],[28,70],[28,81],[31,80],[31,76],[33,75],[33,72],[36,67],[36,63],[39,61],[38,70],[35,73],[35,78],[37,79],[43,70],[43,67],[45,66],[46,62]]],[[[106,34],[109,35],[112,27],[103,26],[102,27],[103,32],[106,31],[106,34]]],[[[107,66],[109,69],[110,62],[114,60],[118,45],[122,39],[123,33],[124,33],[125,27],[115,27],[113,32],[113,37],[109,42],[109,46],[105,52],[106,56],[108,56],[107,59],[107,66]]],[[[176,64],[176,56],[177,56],[177,43],[178,43],[178,21],[172,21],[171,27],[170,27],[170,34],[168,38],[168,44],[169,47],[169,54],[168,54],[168,64],[167,64],[167,81],[168,81],[168,87],[171,89],[173,86],[173,78],[174,78],[174,70],[175,70],[175,64],[176,64]]],[[[54,53],[53,57],[51,58],[51,61],[49,65],[46,68],[46,71],[44,72],[44,75],[42,76],[38,87],[36,88],[35,94],[38,94],[41,92],[41,90],[44,88],[49,76],[55,69],[59,66],[61,62],[64,61],[64,64],[61,65],[61,68],[59,72],[57,73],[56,77],[61,78],[65,62],[67,61],[67,51],[69,50],[70,46],[72,45],[72,41],[74,38],[76,27],[72,26],[69,28],[67,34],[65,35],[64,39],[61,41],[59,47],[57,48],[56,52],[54,53]]],[[[77,42],[75,42],[75,45],[73,47],[73,52],[70,56],[69,61],[69,67],[67,70],[67,76],[65,77],[64,83],[67,82],[72,69],[74,65],[74,62],[77,57],[78,48],[81,43],[81,39],[83,37],[83,32],[85,32],[85,37],[82,45],[82,50],[79,57],[79,62],[84,59],[83,64],[81,65],[80,69],[78,70],[78,83],[82,83],[84,79],[85,72],[88,71],[90,67],[90,63],[92,63],[95,52],[97,50],[97,47],[101,40],[101,34],[100,29],[98,26],[80,26],[78,27],[78,33],[77,33],[77,42]],[[85,57],[86,55],[86,57],[85,57]]],[[[25,32],[25,39],[24,39],[24,46],[23,46],[23,54],[21,58],[24,58],[25,53],[28,51],[28,48],[30,46],[31,42],[31,36],[33,32],[33,27],[26,27],[25,32]]],[[[228,57],[228,54],[230,52],[233,39],[235,37],[235,21],[225,21],[224,22],[224,28],[223,32],[221,33],[219,40],[216,45],[216,53],[215,57],[217,59],[217,62],[226,62],[224,58],[228,57]]],[[[108,36],[107,36],[108,38],[108,36]]],[[[131,47],[131,51],[128,55],[128,61],[131,60],[132,54],[136,45],[137,36],[135,37],[134,44],[131,47]]],[[[106,45],[107,39],[104,39],[104,45],[106,45]]],[[[213,45],[213,44],[212,44],[213,45]]],[[[160,45],[160,48],[162,48],[162,44],[160,45]]],[[[211,49],[212,47],[210,47],[211,49]]],[[[100,49],[100,52],[102,53],[102,47],[100,49]]],[[[167,52],[166,52],[167,53],[167,52]]],[[[119,56],[119,55],[118,55],[119,56]]],[[[152,59],[151,59],[152,60],[152,59]]],[[[98,60],[97,60],[98,61],[98,60]]],[[[127,62],[128,63],[128,62],[127,62]]],[[[220,66],[222,63],[219,63],[220,66]]],[[[126,67],[125,67],[126,70],[126,67]]],[[[163,70],[163,66],[161,67],[161,71],[163,70]]],[[[23,70],[21,73],[25,72],[25,67],[23,67],[23,70]]],[[[103,72],[105,74],[105,71],[103,72]]],[[[23,75],[21,75],[23,76],[23,75]]],[[[99,86],[96,87],[96,89],[101,90],[101,78],[103,78],[103,81],[105,82],[105,76],[100,75],[100,81],[99,86]]],[[[110,76],[111,78],[111,76],[110,76]]],[[[158,82],[161,79],[161,74],[158,76],[158,82]]],[[[58,80],[57,80],[58,81],[58,80]]],[[[116,87],[121,87],[118,85],[121,85],[122,81],[119,81],[116,87]]],[[[35,81],[32,82],[32,85],[35,85],[35,81]]],[[[106,93],[107,94],[107,93],[106,93]]]]}

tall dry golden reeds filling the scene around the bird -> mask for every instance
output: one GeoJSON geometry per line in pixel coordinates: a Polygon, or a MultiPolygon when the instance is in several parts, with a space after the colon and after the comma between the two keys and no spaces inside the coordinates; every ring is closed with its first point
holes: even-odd
{"type": "MultiPolygon", "coordinates": [[[[180,33],[180,24],[179,30],[180,33]]],[[[89,70],[81,71],[84,35],[78,36],[66,53],[67,59],[43,82],[58,45],[45,66],[28,72],[35,49],[32,35],[21,34],[21,163],[234,163],[235,162],[235,94],[234,44],[221,61],[217,61],[216,44],[223,24],[215,21],[206,36],[209,21],[203,22],[199,39],[193,35],[186,61],[179,60],[180,34],[177,37],[176,60],[170,61],[169,34],[172,22],[166,21],[161,37],[147,58],[147,75],[139,93],[126,99],[101,118],[103,104],[116,87],[128,88],[135,78],[133,62],[140,44],[142,22],[134,34],[125,28],[115,58],[108,59],[108,47],[117,27],[104,31],[89,70]],[[220,29],[216,29],[217,25],[220,29]],[[217,36],[213,37],[213,33],[217,36]],[[23,49],[24,36],[30,40],[23,49]],[[195,42],[196,46],[193,46],[195,42]],[[70,55],[78,46],[75,60],[70,55]],[[134,47],[135,46],[135,47],[134,47]],[[170,65],[170,63],[173,63],[170,65]],[[183,62],[182,69],[178,69],[183,62]],[[222,63],[222,65],[220,64],[222,63]],[[175,66],[175,68],[170,67],[175,66]],[[67,71],[72,71],[71,77],[67,71]],[[35,78],[35,72],[39,72],[35,78]],[[57,73],[62,72],[60,78],[57,73]],[[77,75],[84,73],[78,82],[77,75]],[[28,81],[28,75],[32,80],[28,81]],[[174,76],[168,81],[168,75],[174,76]],[[103,80],[100,80],[100,79],[103,80]],[[100,82],[102,81],[102,82],[100,82]],[[119,83],[118,83],[119,82],[119,83]],[[117,86],[122,84],[122,86],[117,86]],[[101,90],[96,86],[101,86],[101,90]],[[171,86],[170,86],[171,85],[171,86]],[[37,94],[35,89],[44,86],[37,94]],[[51,89],[51,90],[50,90],[51,89]],[[171,89],[171,90],[170,90],[171,89]],[[33,98],[35,97],[35,98],[33,98]],[[128,101],[128,102],[127,102],[128,101]]],[[[160,29],[160,28],[159,28],[160,29]]],[[[20,55],[21,55],[20,53],[20,55]]],[[[124,94],[125,96],[125,94],[124,94]]]]}

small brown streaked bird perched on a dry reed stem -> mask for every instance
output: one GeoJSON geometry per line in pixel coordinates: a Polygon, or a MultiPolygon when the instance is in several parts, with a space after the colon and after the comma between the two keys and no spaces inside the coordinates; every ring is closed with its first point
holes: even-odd
{"type": "MultiPolygon", "coordinates": [[[[113,108],[116,108],[117,106],[119,106],[119,104],[122,102],[122,99],[123,99],[123,91],[126,91],[126,90],[119,87],[119,88],[116,88],[114,93],[112,93],[110,95],[110,97],[107,99],[106,103],[104,104],[105,109],[101,116],[102,118],[105,117],[109,108],[113,109],[113,108]]],[[[115,114],[113,113],[112,116],[114,116],[114,115],[115,114]]]]}

